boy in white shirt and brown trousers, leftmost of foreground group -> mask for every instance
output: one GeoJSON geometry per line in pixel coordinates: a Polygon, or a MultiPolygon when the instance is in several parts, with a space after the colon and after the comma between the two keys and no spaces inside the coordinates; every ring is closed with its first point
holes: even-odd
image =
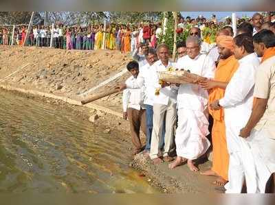
{"type": "MultiPolygon", "coordinates": [[[[131,61],[127,64],[127,69],[131,73],[131,77],[126,80],[127,83],[137,81],[139,74],[139,64],[136,61],[131,61]]],[[[142,143],[140,141],[140,128],[146,134],[146,114],[144,100],[144,88],[131,89],[126,88],[123,91],[123,119],[129,119],[132,142],[134,145],[133,155],[142,151],[142,143]]]]}

